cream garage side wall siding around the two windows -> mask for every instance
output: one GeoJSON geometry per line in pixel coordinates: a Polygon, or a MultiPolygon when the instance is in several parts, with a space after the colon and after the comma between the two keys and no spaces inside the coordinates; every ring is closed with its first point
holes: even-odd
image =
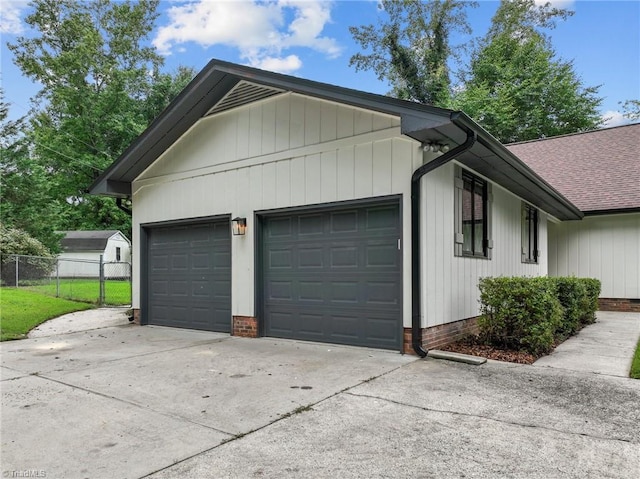
{"type": "Polygon", "coordinates": [[[422,206],[426,218],[422,256],[422,311],[432,327],[479,314],[478,281],[489,276],[547,274],[547,215],[540,212],[538,264],[521,261],[521,200],[493,185],[491,259],[454,255],[454,164],[448,163],[423,180],[422,206]]]}

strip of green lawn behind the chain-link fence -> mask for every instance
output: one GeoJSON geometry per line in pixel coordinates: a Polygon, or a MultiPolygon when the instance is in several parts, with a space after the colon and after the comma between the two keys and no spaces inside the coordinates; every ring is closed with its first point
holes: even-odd
{"type": "MultiPolygon", "coordinates": [[[[105,304],[131,304],[131,283],[128,281],[107,280],[105,282],[105,304]]],[[[43,285],[28,286],[32,291],[56,295],[56,282],[52,280],[43,285]]],[[[87,303],[97,303],[100,297],[100,282],[97,279],[61,279],[60,297],[87,303]]]]}

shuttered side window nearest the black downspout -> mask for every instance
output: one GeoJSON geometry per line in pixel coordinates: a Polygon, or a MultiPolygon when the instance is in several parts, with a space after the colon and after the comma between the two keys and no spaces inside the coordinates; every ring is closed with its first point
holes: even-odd
{"type": "Polygon", "coordinates": [[[456,256],[490,258],[491,184],[456,166],[456,256]]]}

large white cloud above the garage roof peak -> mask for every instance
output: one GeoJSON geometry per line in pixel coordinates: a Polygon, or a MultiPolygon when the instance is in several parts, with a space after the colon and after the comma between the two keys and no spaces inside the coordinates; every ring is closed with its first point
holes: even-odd
{"type": "Polygon", "coordinates": [[[341,51],[335,39],[322,36],[331,22],[328,1],[193,0],[170,7],[167,15],[169,24],[153,40],[164,55],[188,42],[205,48],[226,45],[237,48],[252,66],[291,72],[302,62],[286,50],[310,48],[330,58],[341,51]]]}

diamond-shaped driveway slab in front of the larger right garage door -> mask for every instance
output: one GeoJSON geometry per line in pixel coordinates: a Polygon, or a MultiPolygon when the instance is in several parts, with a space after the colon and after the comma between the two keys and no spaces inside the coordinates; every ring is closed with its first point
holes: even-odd
{"type": "Polygon", "coordinates": [[[48,375],[229,434],[244,434],[416,360],[366,348],[227,337],[48,375]]]}

